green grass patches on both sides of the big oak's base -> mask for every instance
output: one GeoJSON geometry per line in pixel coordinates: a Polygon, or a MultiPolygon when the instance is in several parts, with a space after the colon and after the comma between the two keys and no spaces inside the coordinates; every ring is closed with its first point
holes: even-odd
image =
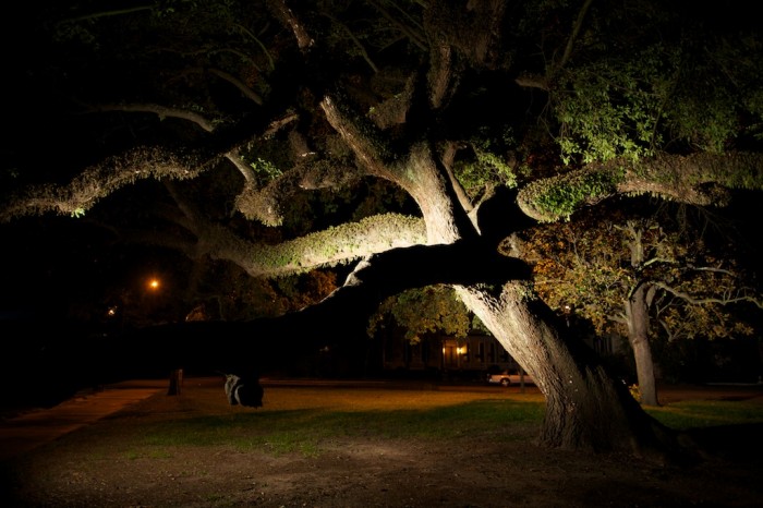
{"type": "MultiPolygon", "coordinates": [[[[676,430],[763,422],[763,404],[742,401],[686,401],[647,412],[676,430]]],[[[424,409],[314,408],[194,416],[145,423],[125,457],[167,458],[173,447],[213,446],[316,457],[327,443],[358,437],[523,439],[537,432],[543,413],[538,400],[487,399],[424,409]]]]}

